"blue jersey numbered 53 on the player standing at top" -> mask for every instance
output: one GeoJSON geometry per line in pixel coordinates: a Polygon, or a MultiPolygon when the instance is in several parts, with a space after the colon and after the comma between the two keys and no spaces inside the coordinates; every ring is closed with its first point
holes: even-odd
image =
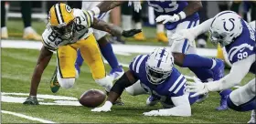
{"type": "MultiPolygon", "coordinates": [[[[175,15],[179,12],[183,11],[184,8],[188,5],[187,1],[176,1],[176,0],[168,0],[168,1],[147,1],[149,6],[152,6],[155,10],[155,15],[175,15]]],[[[196,21],[199,19],[199,15],[197,13],[193,15],[187,16],[185,19],[174,22],[174,23],[166,23],[165,28],[168,30],[173,30],[176,26],[184,21],[196,21]]]]}

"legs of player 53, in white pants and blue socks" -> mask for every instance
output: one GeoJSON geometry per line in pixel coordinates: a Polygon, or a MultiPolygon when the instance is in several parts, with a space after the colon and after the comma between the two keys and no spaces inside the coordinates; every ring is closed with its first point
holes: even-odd
{"type": "MultiPolygon", "coordinates": [[[[190,28],[192,26],[197,26],[198,20],[195,21],[186,21],[179,24],[176,27],[176,31],[190,28]]],[[[173,32],[168,31],[167,35],[170,37],[173,32]]],[[[193,44],[188,45],[187,40],[184,42],[178,42],[172,45],[173,55],[175,57],[176,65],[180,67],[188,67],[191,71],[193,71],[197,78],[199,78],[203,82],[208,82],[209,78],[213,80],[219,80],[224,77],[224,63],[220,59],[212,59],[208,57],[200,57],[197,55],[195,42],[193,44]]],[[[228,109],[227,106],[227,96],[231,90],[226,89],[219,93],[221,96],[220,106],[218,110],[228,109]]]]}

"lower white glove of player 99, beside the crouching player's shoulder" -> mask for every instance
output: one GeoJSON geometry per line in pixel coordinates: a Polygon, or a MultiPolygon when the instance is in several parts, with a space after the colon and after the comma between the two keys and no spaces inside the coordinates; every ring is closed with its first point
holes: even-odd
{"type": "Polygon", "coordinates": [[[199,95],[208,93],[207,83],[200,82],[197,78],[194,77],[195,83],[187,82],[187,92],[195,92],[195,94],[191,95],[191,98],[197,97],[199,95]]]}

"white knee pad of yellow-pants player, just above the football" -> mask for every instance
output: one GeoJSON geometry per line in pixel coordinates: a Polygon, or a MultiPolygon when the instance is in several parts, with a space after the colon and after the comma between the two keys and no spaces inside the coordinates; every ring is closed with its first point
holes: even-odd
{"type": "Polygon", "coordinates": [[[101,79],[95,79],[95,82],[105,88],[108,92],[112,89],[112,79],[109,76],[101,79]]]}

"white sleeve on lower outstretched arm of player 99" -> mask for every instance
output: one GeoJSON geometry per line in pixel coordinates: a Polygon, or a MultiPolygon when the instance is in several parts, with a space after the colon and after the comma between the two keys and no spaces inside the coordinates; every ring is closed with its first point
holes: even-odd
{"type": "Polygon", "coordinates": [[[250,57],[233,63],[231,70],[226,77],[206,84],[208,90],[220,91],[240,84],[242,78],[249,72],[253,62],[255,62],[255,55],[251,55],[250,57]]]}

